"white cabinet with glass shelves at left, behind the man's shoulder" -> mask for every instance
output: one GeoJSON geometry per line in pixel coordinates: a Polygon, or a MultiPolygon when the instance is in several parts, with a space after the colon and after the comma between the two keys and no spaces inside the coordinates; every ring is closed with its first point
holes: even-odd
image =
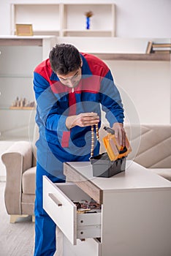
{"type": "Polygon", "coordinates": [[[0,140],[31,139],[35,108],[11,106],[16,97],[34,102],[34,68],[55,42],[55,37],[0,37],[0,140]]]}

